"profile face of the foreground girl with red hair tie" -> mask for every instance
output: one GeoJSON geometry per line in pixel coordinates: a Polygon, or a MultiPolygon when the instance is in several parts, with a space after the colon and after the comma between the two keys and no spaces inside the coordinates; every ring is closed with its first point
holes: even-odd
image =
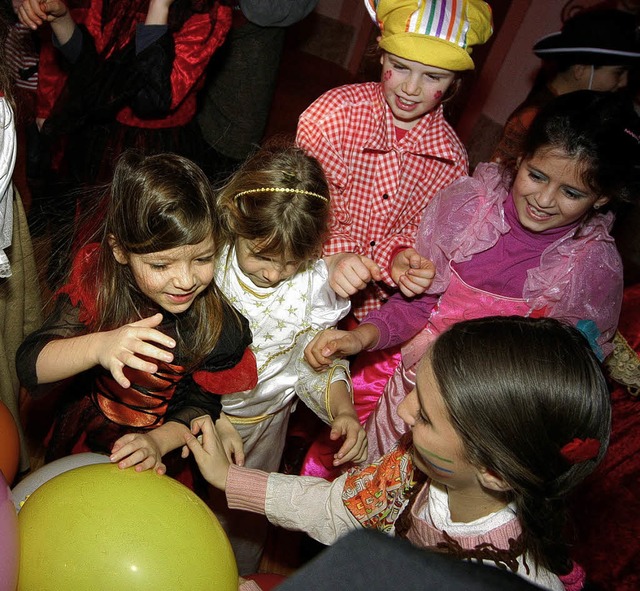
{"type": "Polygon", "coordinates": [[[448,488],[474,490],[479,487],[478,470],[465,459],[462,439],[451,423],[428,358],[416,377],[416,387],[398,406],[398,416],[413,433],[416,466],[448,488]]]}

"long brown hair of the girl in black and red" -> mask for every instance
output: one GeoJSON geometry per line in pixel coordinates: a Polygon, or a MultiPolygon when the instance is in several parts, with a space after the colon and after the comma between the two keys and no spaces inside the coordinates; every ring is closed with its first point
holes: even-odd
{"type": "MultiPolygon", "coordinates": [[[[148,254],[208,237],[220,244],[213,191],[200,168],[176,154],[125,152],[115,168],[102,229],[95,328],[113,329],[155,311],[129,265],[115,260],[110,241],[125,254],[148,254]]],[[[188,365],[197,364],[215,347],[225,305],[212,281],[187,311],[176,315],[176,352],[188,365]]]]}

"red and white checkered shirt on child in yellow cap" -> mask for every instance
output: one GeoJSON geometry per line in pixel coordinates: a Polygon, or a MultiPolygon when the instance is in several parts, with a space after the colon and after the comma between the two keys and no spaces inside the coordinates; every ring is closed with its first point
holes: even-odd
{"type": "Polygon", "coordinates": [[[431,198],[468,174],[467,153],[442,106],[397,140],[378,82],[323,94],[300,116],[296,142],[320,161],[331,188],[324,255],[355,252],[382,270],[382,282],[352,298],[352,310],[362,319],[397,290],[389,275],[392,257],[413,246],[431,198]]]}

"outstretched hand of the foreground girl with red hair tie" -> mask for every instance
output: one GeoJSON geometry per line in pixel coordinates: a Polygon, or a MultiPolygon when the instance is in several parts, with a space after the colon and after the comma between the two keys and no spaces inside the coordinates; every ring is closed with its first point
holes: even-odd
{"type": "Polygon", "coordinates": [[[191,434],[185,435],[184,442],[205,479],[216,488],[225,490],[229,460],[211,417],[206,415],[191,421],[191,434]],[[202,434],[202,443],[195,437],[198,434],[202,434]]]}

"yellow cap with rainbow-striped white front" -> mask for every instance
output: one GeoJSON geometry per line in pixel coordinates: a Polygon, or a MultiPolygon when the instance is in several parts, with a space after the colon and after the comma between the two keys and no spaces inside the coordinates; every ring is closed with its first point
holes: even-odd
{"type": "Polygon", "coordinates": [[[480,0],[364,0],[380,27],[380,48],[460,72],[473,70],[474,45],[491,37],[491,7],[480,0]]]}

